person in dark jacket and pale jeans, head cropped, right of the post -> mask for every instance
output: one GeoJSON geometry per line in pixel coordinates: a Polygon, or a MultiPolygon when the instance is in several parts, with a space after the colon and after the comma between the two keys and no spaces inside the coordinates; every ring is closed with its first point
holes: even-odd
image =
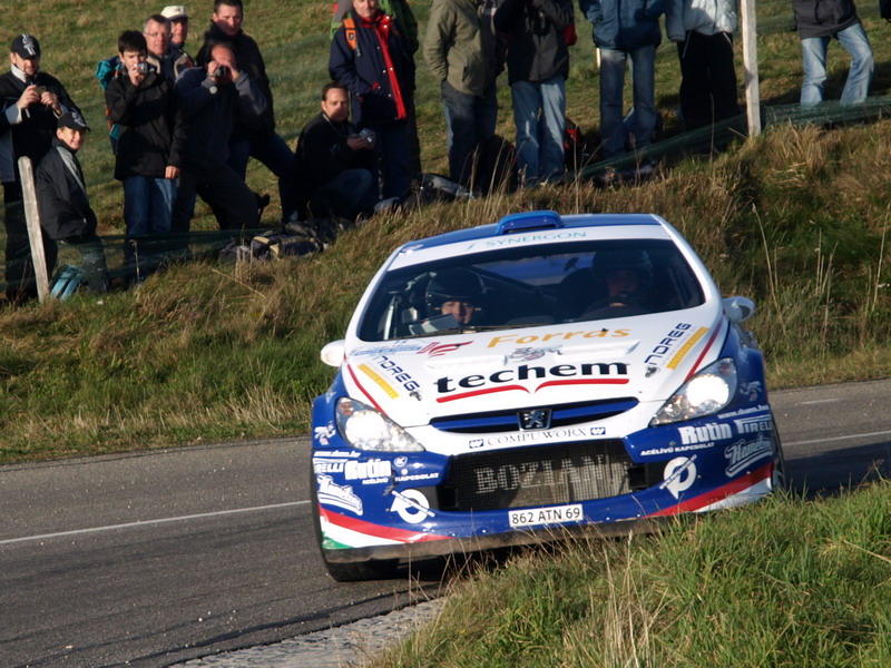
{"type": "Polygon", "coordinates": [[[813,107],[823,101],[826,49],[833,37],[851,55],[851,69],[841,101],[843,105],[864,101],[875,65],[870,39],[860,22],[853,0],[792,0],[792,8],[804,63],[801,106],[813,107]]]}

